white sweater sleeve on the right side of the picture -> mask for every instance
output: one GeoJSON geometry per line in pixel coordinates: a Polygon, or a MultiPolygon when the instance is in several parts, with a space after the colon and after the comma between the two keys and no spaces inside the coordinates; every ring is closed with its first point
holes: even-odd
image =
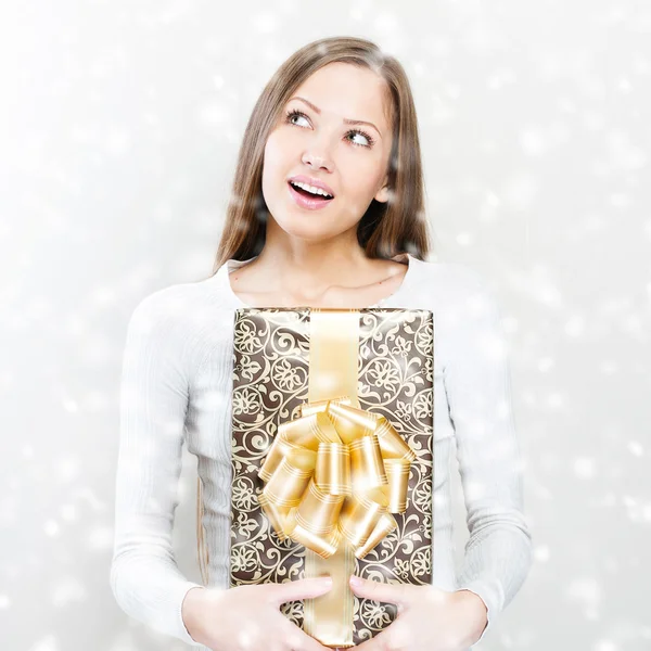
{"type": "Polygon", "coordinates": [[[480,275],[459,268],[459,299],[446,316],[451,345],[443,375],[470,533],[457,589],[474,592],[486,605],[481,640],[526,578],[532,536],[499,309],[480,275]]]}

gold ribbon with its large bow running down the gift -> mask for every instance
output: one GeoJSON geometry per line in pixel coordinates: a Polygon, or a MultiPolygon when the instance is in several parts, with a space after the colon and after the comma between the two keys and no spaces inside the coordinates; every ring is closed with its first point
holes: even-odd
{"type": "Polygon", "coordinates": [[[332,577],[330,591],[304,600],[303,628],[340,648],[354,646],[355,556],[396,526],[416,457],[386,419],[360,409],[359,320],[357,309],[310,309],[308,403],[279,425],[260,471],[263,510],[305,545],[305,576],[332,577]]]}

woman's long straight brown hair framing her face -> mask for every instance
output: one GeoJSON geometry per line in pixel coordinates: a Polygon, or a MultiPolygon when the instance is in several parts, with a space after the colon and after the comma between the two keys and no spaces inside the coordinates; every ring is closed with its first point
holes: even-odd
{"type": "Polygon", "coordinates": [[[240,148],[226,226],[213,273],[228,259],[257,256],[265,245],[267,205],[261,191],[267,137],[292,93],[312,73],[343,62],[379,74],[391,94],[388,202],[374,199],[357,227],[357,240],[370,258],[392,258],[408,252],[419,259],[430,253],[424,212],[424,183],[418,124],[409,80],[400,63],[366,39],[323,38],[301,48],[278,68],[258,98],[240,148]]]}

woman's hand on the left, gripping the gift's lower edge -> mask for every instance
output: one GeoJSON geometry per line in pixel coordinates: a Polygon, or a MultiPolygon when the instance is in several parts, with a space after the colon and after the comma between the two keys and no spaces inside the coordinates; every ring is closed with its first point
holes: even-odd
{"type": "Polygon", "coordinates": [[[192,588],[181,608],[193,640],[214,651],[331,651],[280,612],[286,601],[328,592],[332,579],[302,578],[228,590],[192,588]]]}

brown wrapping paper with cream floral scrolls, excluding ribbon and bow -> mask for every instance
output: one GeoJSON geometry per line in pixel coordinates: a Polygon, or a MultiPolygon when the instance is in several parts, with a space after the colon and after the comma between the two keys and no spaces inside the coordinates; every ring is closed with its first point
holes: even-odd
{"type": "MultiPolygon", "coordinates": [[[[355,574],[385,583],[432,582],[433,369],[431,310],[359,309],[358,399],[384,416],[416,452],[407,510],[398,527],[363,559],[355,574]]],[[[258,469],[281,422],[298,418],[308,401],[310,308],[235,310],[232,393],[231,587],[304,576],[305,547],[281,541],[260,509],[258,469]]],[[[334,397],[334,396],[333,396],[334,397]]],[[[303,602],[281,611],[303,625],[303,602]]],[[[385,628],[392,603],[355,597],[354,642],[385,628]]]]}

